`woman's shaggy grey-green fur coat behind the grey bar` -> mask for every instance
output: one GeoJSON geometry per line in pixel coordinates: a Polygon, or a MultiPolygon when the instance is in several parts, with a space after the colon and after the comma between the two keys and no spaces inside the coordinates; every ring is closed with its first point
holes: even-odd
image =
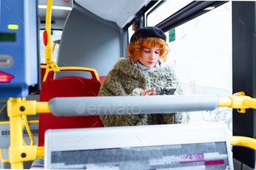
{"type": "MultiPolygon", "coordinates": [[[[98,96],[140,96],[147,88],[158,88],[162,91],[165,87],[176,87],[176,94],[184,94],[181,82],[172,68],[164,63],[159,69],[152,72],[143,72],[133,66],[131,61],[120,58],[113,66],[99,89],[98,96]]],[[[158,95],[159,92],[156,93],[158,95]]],[[[146,96],[145,96],[146,97],[146,96]]],[[[169,114],[143,114],[143,115],[100,115],[104,126],[125,125],[156,125],[161,124],[189,123],[190,115],[187,112],[169,114]]]]}

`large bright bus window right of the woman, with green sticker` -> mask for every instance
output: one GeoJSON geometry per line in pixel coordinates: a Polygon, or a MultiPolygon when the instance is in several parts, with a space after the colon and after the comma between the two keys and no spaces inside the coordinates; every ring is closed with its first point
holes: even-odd
{"type": "MultiPolygon", "coordinates": [[[[166,11],[157,9],[151,15],[157,18],[166,11]]],[[[153,23],[150,20],[153,19],[148,18],[148,23],[153,23]]],[[[169,59],[166,62],[176,67],[187,95],[232,96],[231,2],[211,9],[165,34],[170,47],[169,59]]],[[[191,112],[189,123],[217,121],[225,122],[232,136],[230,108],[219,107],[211,112],[191,112]]]]}

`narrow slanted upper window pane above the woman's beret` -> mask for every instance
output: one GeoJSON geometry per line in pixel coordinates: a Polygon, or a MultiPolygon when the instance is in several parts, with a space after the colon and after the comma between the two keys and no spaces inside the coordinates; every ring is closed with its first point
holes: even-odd
{"type": "MultiPolygon", "coordinates": [[[[160,23],[162,20],[165,20],[170,15],[173,15],[175,12],[177,12],[179,9],[185,7],[190,2],[192,2],[192,1],[188,1],[188,0],[186,0],[186,1],[180,1],[180,0],[165,1],[154,12],[152,12],[148,15],[148,17],[147,17],[148,25],[147,26],[156,26],[157,23],[160,23]]],[[[148,10],[148,12],[149,11],[150,10],[148,10]]]]}

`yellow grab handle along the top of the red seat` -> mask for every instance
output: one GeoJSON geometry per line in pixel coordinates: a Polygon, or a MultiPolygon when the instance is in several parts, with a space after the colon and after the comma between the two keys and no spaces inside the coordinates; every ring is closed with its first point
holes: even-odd
{"type": "MultiPolygon", "coordinates": [[[[91,69],[88,67],[80,67],[80,66],[63,66],[63,67],[59,67],[60,71],[83,71],[83,72],[90,72],[91,73],[91,80],[96,80],[96,81],[100,81],[99,80],[99,75],[96,71],[96,69],[91,69]]],[[[46,74],[46,73],[45,73],[46,74]]],[[[49,69],[49,74],[48,77],[46,79],[46,81],[51,80],[51,75],[53,74],[53,69],[49,69]],[[50,76],[49,76],[50,75],[50,76]]]]}

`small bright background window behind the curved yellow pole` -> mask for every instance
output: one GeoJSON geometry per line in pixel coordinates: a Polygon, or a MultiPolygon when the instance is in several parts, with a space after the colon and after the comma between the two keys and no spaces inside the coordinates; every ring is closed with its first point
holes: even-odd
{"type": "MultiPolygon", "coordinates": [[[[45,30],[40,30],[40,39],[42,38],[42,35],[44,33],[45,30]]],[[[53,42],[61,39],[61,34],[62,34],[62,30],[52,30],[52,33],[50,35],[50,47],[53,47],[53,42]]],[[[45,45],[43,43],[43,41],[39,41],[40,44],[40,62],[41,63],[45,63],[45,45]]],[[[56,62],[57,61],[57,55],[58,55],[58,51],[59,51],[59,45],[56,45],[53,51],[53,61],[56,62]]]]}

